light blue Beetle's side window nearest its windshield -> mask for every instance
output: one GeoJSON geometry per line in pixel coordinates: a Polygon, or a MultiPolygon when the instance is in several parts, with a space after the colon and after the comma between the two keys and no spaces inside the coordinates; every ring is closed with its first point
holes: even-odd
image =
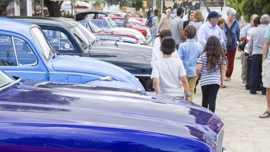
{"type": "Polygon", "coordinates": [[[25,41],[14,37],[13,41],[19,66],[37,65],[37,59],[28,44],[26,44],[25,41]]]}

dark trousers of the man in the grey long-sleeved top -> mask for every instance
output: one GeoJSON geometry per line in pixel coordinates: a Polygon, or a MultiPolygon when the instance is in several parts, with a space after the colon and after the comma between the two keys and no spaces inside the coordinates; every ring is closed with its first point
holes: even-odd
{"type": "Polygon", "coordinates": [[[255,94],[257,88],[260,88],[262,94],[266,93],[266,88],[263,87],[262,84],[262,54],[254,54],[252,55],[251,69],[249,75],[249,92],[255,94]]]}

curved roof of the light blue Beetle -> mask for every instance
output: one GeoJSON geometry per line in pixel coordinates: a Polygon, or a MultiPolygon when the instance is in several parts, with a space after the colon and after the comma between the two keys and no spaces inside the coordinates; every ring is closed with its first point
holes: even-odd
{"type": "Polygon", "coordinates": [[[19,21],[19,20],[10,19],[10,18],[0,17],[0,22],[1,22],[0,30],[17,33],[27,38],[30,38],[29,30],[32,27],[35,27],[35,26],[38,27],[37,25],[33,23],[19,21]]]}

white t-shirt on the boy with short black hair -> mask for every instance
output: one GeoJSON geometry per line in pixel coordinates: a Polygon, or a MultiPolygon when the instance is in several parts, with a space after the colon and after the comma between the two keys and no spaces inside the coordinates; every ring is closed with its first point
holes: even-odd
{"type": "Polygon", "coordinates": [[[184,87],[179,78],[185,75],[183,61],[170,57],[158,60],[154,64],[151,79],[159,79],[162,94],[182,97],[184,96],[184,87]]]}

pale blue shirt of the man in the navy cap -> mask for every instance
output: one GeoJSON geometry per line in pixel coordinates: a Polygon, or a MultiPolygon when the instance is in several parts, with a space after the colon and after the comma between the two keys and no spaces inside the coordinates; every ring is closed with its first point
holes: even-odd
{"type": "Polygon", "coordinates": [[[203,47],[205,47],[208,37],[214,35],[218,37],[220,44],[223,44],[224,39],[223,39],[221,30],[222,29],[220,29],[218,25],[212,26],[209,23],[209,21],[207,21],[206,23],[203,23],[203,25],[201,25],[201,27],[198,30],[197,42],[199,42],[201,45],[203,45],[203,47]]]}

